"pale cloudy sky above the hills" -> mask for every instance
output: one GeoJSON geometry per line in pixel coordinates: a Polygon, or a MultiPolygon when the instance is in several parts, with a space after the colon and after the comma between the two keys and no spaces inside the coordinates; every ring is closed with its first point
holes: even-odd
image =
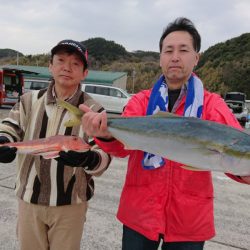
{"type": "Polygon", "coordinates": [[[250,32],[250,0],[0,0],[0,48],[48,53],[60,40],[103,37],[127,51],[158,51],[164,27],[191,19],[202,51],[250,32]]]}

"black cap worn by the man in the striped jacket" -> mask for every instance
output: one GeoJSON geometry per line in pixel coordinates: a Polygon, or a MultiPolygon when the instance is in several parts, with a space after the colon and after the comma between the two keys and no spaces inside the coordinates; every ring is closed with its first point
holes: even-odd
{"type": "Polygon", "coordinates": [[[70,49],[75,51],[82,59],[84,67],[88,68],[88,51],[85,46],[74,40],[62,40],[51,50],[51,56],[53,57],[61,49],[70,49]]]}

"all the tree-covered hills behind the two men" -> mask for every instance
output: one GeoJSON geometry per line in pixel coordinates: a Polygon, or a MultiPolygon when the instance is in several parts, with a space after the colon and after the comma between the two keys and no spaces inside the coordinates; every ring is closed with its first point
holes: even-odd
{"type": "MultiPolygon", "coordinates": [[[[138,92],[149,88],[161,74],[159,53],[152,51],[128,52],[104,38],[82,41],[89,51],[89,68],[93,70],[124,71],[128,73],[128,90],[138,92]]],[[[10,50],[12,51],[12,50],[10,50]]],[[[16,64],[16,51],[12,57],[0,49],[0,64],[16,64]]],[[[48,66],[50,55],[22,55],[20,65],[48,66]]],[[[250,99],[250,33],[218,43],[201,54],[195,72],[206,88],[224,95],[227,91],[241,91],[250,99]]]]}

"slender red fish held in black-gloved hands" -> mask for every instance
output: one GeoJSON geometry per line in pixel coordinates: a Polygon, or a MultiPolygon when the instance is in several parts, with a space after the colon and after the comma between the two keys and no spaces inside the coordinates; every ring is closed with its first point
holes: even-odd
{"type": "Polygon", "coordinates": [[[55,135],[48,138],[9,142],[0,146],[16,147],[19,154],[41,155],[45,159],[56,158],[60,151],[84,152],[90,145],[77,136],[55,135]]]}

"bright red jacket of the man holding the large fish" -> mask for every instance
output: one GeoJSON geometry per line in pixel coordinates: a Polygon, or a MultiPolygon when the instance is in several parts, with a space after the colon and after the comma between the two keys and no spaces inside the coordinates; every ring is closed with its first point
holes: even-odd
{"type": "MultiPolygon", "coordinates": [[[[145,116],[150,94],[151,90],[144,90],[134,95],[123,116],[145,116]]],[[[183,114],[184,104],[185,97],[176,114],[183,114]]],[[[223,99],[208,91],[204,92],[202,118],[242,129],[223,99]]],[[[117,140],[105,142],[96,138],[96,143],[114,156],[129,156],[117,214],[124,225],[155,241],[159,235],[169,242],[205,241],[215,235],[211,172],[186,170],[173,161],[145,170],[142,151],[125,150],[117,140]]]]}

